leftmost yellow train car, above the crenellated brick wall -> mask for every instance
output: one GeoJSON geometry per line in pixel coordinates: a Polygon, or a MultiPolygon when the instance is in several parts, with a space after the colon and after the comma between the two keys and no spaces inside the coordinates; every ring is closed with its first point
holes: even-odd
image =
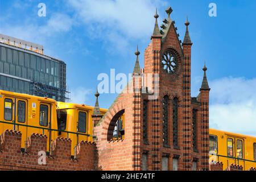
{"type": "Polygon", "coordinates": [[[47,151],[51,140],[57,137],[57,102],[50,98],[30,96],[0,90],[0,133],[6,129],[22,133],[21,148],[33,133],[47,135],[47,151]]]}

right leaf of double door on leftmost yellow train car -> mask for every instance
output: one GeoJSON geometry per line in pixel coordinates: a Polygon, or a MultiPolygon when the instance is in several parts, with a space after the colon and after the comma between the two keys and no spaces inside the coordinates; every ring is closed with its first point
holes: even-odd
{"type": "Polygon", "coordinates": [[[25,148],[25,140],[27,139],[27,111],[28,111],[28,105],[27,100],[23,100],[20,98],[16,98],[16,106],[15,106],[15,118],[16,124],[20,125],[26,125],[26,126],[20,126],[16,125],[16,130],[20,131],[22,133],[22,148],[25,148]]]}

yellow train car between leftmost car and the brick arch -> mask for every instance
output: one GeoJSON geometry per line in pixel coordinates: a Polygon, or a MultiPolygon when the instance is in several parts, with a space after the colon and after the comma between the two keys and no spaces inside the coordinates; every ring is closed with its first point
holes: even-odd
{"type": "MultiPolygon", "coordinates": [[[[92,114],[94,107],[84,104],[57,102],[57,126],[59,137],[72,140],[71,155],[75,154],[75,146],[82,140],[93,142],[92,114]]],[[[100,109],[104,115],[107,109],[100,109]]]]}

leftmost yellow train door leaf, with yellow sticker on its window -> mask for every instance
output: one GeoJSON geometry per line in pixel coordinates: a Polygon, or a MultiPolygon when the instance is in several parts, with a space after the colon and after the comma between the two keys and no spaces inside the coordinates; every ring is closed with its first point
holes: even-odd
{"type": "Polygon", "coordinates": [[[6,130],[15,130],[15,98],[3,97],[3,122],[1,134],[6,130]]]}

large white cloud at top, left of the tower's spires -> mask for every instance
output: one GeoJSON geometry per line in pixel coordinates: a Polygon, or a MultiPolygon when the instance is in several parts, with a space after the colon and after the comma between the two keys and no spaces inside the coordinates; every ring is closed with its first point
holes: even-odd
{"type": "Polygon", "coordinates": [[[150,38],[155,22],[153,17],[155,8],[166,6],[162,0],[69,0],[68,2],[88,28],[90,38],[101,39],[110,51],[115,49],[122,53],[127,51],[131,39],[134,41],[150,38]]]}

